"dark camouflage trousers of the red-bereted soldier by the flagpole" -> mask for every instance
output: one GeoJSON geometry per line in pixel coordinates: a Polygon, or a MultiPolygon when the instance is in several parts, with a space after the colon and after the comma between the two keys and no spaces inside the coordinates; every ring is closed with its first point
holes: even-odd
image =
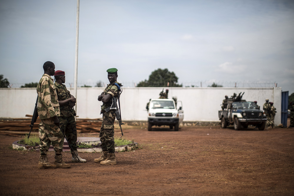
{"type": "MultiPolygon", "coordinates": [[[[74,116],[59,116],[60,128],[66,136],[71,147],[76,150],[78,148],[77,133],[76,133],[76,120],[74,116]]],[[[73,152],[72,152],[73,153],[73,152]]]]}

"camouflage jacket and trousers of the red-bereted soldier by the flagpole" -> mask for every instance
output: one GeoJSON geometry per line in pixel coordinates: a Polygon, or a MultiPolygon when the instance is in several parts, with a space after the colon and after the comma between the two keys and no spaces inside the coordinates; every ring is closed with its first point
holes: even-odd
{"type": "MultiPolygon", "coordinates": [[[[67,90],[64,84],[59,84],[55,82],[54,86],[56,87],[58,100],[66,100],[71,98],[71,94],[67,90]]],[[[76,143],[77,133],[76,133],[76,120],[75,120],[76,112],[74,108],[70,108],[69,104],[59,106],[59,108],[60,108],[60,116],[58,118],[60,121],[60,128],[64,131],[64,134],[67,140],[69,141],[71,147],[74,150],[77,150],[78,145],[76,143]]]]}

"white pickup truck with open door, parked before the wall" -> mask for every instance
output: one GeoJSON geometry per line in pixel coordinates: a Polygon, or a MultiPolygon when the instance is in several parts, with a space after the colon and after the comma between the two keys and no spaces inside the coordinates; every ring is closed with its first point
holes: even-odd
{"type": "Polygon", "coordinates": [[[183,121],[184,110],[181,101],[173,99],[151,99],[148,106],[148,131],[152,126],[169,125],[175,131],[179,130],[179,123],[183,121]],[[177,109],[178,107],[178,109],[177,109]]]}

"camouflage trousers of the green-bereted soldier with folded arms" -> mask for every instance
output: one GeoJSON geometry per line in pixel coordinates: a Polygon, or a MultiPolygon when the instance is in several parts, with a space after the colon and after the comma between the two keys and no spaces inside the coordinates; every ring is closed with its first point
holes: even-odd
{"type": "Polygon", "coordinates": [[[108,151],[108,153],[115,153],[114,148],[114,120],[115,120],[115,111],[109,111],[103,113],[103,120],[100,129],[100,141],[101,148],[103,151],[108,151]]]}

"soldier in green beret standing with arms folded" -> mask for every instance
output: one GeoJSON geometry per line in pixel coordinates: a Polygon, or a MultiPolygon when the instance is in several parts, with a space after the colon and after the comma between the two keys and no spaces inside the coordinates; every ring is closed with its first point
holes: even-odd
{"type": "Polygon", "coordinates": [[[94,162],[100,163],[102,165],[115,165],[115,148],[114,148],[114,120],[116,118],[115,110],[105,111],[112,105],[112,97],[118,97],[118,91],[122,86],[116,81],[117,69],[110,68],[107,70],[107,77],[109,84],[106,86],[101,95],[98,96],[98,101],[102,101],[101,113],[103,113],[103,121],[100,129],[100,141],[102,154],[100,158],[94,159],[94,162]]]}

